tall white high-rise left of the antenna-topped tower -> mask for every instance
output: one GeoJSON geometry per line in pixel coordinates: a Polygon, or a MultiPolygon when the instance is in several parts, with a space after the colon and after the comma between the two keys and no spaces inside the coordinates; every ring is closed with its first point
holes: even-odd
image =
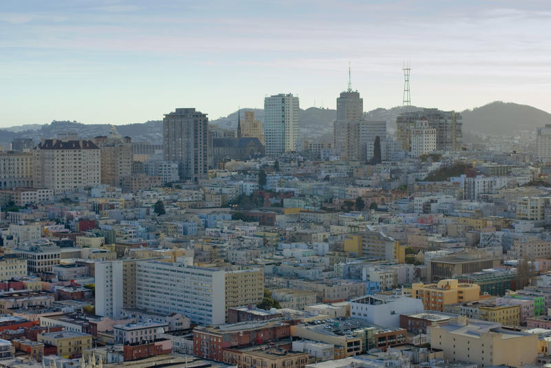
{"type": "Polygon", "coordinates": [[[264,145],[266,155],[278,157],[297,151],[300,138],[298,96],[277,94],[264,98],[264,145]]]}

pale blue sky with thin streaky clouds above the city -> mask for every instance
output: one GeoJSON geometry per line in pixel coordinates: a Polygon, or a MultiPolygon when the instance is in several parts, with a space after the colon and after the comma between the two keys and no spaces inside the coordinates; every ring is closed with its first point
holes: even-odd
{"type": "Polygon", "coordinates": [[[127,124],[176,107],[209,118],[264,96],[334,109],[551,112],[551,3],[507,0],[0,1],[0,127],[127,124]]]}

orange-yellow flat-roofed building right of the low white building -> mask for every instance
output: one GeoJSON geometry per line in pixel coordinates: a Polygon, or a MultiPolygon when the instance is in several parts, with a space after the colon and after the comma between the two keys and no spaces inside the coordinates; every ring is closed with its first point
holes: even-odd
{"type": "Polygon", "coordinates": [[[480,285],[459,283],[457,280],[440,280],[438,283],[413,283],[411,295],[423,301],[426,310],[444,312],[444,305],[477,301],[480,285]]]}

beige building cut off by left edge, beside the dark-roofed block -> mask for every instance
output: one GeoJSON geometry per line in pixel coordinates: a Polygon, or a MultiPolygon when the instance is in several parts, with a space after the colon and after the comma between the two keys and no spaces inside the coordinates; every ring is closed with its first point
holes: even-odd
{"type": "Polygon", "coordinates": [[[0,189],[33,186],[32,153],[0,151],[0,189]]]}

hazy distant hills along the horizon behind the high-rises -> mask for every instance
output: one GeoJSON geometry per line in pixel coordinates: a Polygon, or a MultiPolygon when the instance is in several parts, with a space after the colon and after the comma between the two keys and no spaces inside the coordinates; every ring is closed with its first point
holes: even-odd
{"type": "MultiPolygon", "coordinates": [[[[404,111],[422,109],[422,107],[378,108],[365,113],[368,120],[385,120],[388,131],[395,133],[396,116],[404,111]]],[[[263,109],[253,110],[255,117],[264,122],[263,109]]],[[[475,140],[471,133],[486,133],[492,135],[514,136],[521,130],[534,131],[537,127],[551,124],[551,113],[528,105],[513,102],[495,101],[488,105],[461,111],[463,130],[466,142],[475,140]],[[468,133],[471,132],[471,133],[468,133]]],[[[334,109],[309,107],[300,110],[300,134],[304,138],[331,140],[333,120],[337,116],[334,109]]],[[[228,116],[210,121],[211,125],[222,128],[236,129],[237,111],[228,116]]],[[[163,121],[152,120],[143,123],[116,125],[116,130],[122,136],[129,136],[134,142],[163,141],[163,121]]],[[[32,138],[38,143],[41,138],[55,138],[57,133],[76,131],[82,138],[93,138],[106,135],[111,131],[109,124],[82,124],[76,121],[52,121],[45,125],[21,125],[0,129],[0,145],[7,149],[14,138],[32,138]]]]}

